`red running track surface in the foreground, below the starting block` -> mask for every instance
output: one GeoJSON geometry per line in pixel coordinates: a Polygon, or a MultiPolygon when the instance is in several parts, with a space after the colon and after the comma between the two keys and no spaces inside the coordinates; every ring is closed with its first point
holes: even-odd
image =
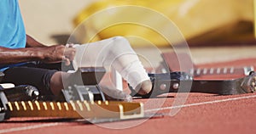
{"type": "MultiPolygon", "coordinates": [[[[170,116],[170,110],[175,94],[170,94],[165,103],[159,107],[165,98],[152,98],[143,101],[151,110],[165,114],[163,117],[147,120],[126,120],[97,125],[81,122],[50,121],[44,119],[14,118],[1,123],[0,133],[33,134],[33,133],[255,133],[256,94],[233,96],[216,96],[212,94],[190,93],[186,103],[176,115],[170,116]],[[159,109],[160,108],[160,109],[159,109]],[[25,120],[25,121],[24,121],[25,120]],[[30,120],[31,122],[27,122],[30,120]],[[35,121],[32,121],[35,120],[35,121]],[[39,120],[39,121],[38,121],[39,120]],[[42,120],[42,121],[40,121],[42,120]],[[124,129],[114,129],[122,128],[124,129]]],[[[146,106],[147,107],[147,106],[146,106]]],[[[146,109],[147,111],[147,109],[146,109]]]]}

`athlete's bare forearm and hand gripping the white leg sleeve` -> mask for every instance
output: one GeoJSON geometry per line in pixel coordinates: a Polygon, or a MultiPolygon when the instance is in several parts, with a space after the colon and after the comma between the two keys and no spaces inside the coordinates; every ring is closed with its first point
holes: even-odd
{"type": "Polygon", "coordinates": [[[46,47],[28,36],[25,48],[0,47],[0,64],[17,64],[28,61],[42,61],[44,63],[59,63],[67,65],[74,58],[75,49],[63,45],[46,47]]]}

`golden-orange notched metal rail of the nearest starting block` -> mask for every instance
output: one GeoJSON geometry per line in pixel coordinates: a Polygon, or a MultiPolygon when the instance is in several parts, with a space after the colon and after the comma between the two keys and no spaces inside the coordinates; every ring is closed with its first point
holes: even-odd
{"type": "Polygon", "coordinates": [[[144,118],[143,103],[109,101],[8,102],[0,92],[0,121],[11,117],[59,117],[91,120],[92,123],[144,118]]]}

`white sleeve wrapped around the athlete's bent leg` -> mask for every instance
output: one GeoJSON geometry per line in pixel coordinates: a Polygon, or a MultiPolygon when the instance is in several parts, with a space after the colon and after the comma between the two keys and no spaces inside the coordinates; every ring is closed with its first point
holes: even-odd
{"type": "Polygon", "coordinates": [[[125,37],[116,36],[99,42],[74,45],[75,70],[79,67],[107,67],[111,65],[135,89],[141,82],[149,80],[137,53],[125,37]]]}

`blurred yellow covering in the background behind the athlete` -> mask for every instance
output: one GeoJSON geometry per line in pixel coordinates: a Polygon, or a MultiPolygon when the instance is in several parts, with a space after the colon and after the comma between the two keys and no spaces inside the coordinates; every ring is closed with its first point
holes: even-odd
{"type": "Polygon", "coordinates": [[[162,32],[172,32],[171,28],[166,29],[168,22],[160,18],[161,14],[177,25],[189,45],[254,41],[253,0],[102,0],[84,8],[75,18],[74,23],[84,26],[79,30],[88,31],[78,32],[79,42],[94,42],[111,36],[126,36],[130,39],[132,46],[147,46],[148,42],[130,38],[130,36],[139,36],[156,46],[165,47],[170,45],[170,42],[166,41],[166,36],[160,35],[150,27],[153,26],[162,32]],[[130,7],[125,7],[127,5],[130,7]],[[149,8],[158,14],[147,14],[146,9],[140,12],[131,5],[149,8]],[[134,13],[134,10],[137,11],[134,13]],[[96,14],[99,12],[104,13],[96,14]],[[86,19],[90,22],[84,22],[86,19]],[[150,25],[149,27],[134,23],[114,25],[119,20],[137,20],[138,24],[150,25]],[[96,31],[96,36],[87,38],[80,36],[91,31],[96,31]]]}

